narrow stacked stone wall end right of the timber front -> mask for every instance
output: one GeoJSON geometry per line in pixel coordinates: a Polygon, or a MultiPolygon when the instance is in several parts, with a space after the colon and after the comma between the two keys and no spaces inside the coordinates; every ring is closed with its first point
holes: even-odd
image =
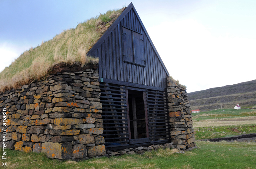
{"type": "Polygon", "coordinates": [[[192,112],[186,89],[167,77],[168,112],[171,126],[171,148],[192,150],[196,147],[192,112]]]}

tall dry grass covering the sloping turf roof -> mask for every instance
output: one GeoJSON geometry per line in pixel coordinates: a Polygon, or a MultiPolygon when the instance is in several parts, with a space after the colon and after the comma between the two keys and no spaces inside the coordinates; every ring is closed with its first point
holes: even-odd
{"type": "Polygon", "coordinates": [[[89,62],[97,63],[98,58],[90,58],[86,53],[122,11],[124,8],[109,10],[79,23],[74,29],[61,32],[51,40],[42,42],[40,46],[31,47],[0,73],[0,91],[43,80],[51,67],[61,62],[68,65],[79,63],[82,67],[89,62]]]}

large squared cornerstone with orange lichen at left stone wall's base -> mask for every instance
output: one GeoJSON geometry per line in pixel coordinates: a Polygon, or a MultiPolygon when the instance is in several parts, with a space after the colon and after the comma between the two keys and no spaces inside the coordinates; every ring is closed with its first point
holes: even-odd
{"type": "Polygon", "coordinates": [[[46,153],[48,158],[71,159],[72,143],[42,143],[42,152],[46,153]]]}

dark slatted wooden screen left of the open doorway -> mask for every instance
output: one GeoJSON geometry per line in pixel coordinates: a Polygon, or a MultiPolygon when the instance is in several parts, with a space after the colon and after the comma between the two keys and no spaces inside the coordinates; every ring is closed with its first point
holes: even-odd
{"type": "Polygon", "coordinates": [[[105,146],[129,145],[126,91],[120,85],[100,83],[105,146]]]}

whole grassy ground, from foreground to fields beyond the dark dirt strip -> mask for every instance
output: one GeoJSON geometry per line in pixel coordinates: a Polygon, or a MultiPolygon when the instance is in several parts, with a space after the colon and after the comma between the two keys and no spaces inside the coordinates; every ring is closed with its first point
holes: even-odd
{"type": "MultiPolygon", "coordinates": [[[[255,110],[225,109],[197,113],[196,116],[227,115],[235,117],[242,114],[252,115],[241,118],[194,120],[196,139],[231,137],[246,133],[256,133],[255,110]]],[[[198,149],[176,153],[177,149],[146,152],[143,155],[122,155],[111,158],[92,158],[80,162],[49,159],[43,153],[7,151],[8,169],[256,169],[255,142],[205,142],[196,141],[198,149]]],[[[2,154],[2,149],[0,149],[2,154]]],[[[1,159],[1,158],[0,158],[1,159]]],[[[3,159],[0,160],[0,165],[3,159]]]]}

